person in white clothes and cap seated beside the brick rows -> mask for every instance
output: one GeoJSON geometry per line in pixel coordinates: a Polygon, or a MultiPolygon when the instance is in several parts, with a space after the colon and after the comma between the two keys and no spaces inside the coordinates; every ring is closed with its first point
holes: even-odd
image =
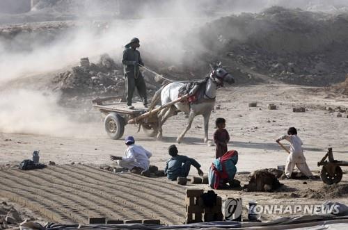
{"type": "Polygon", "coordinates": [[[117,161],[120,167],[125,167],[133,173],[150,176],[148,171],[150,165],[149,158],[152,156],[150,151],[140,145],[134,145],[135,140],[132,136],[127,136],[125,142],[127,145],[125,156],[110,156],[111,161],[117,161]]]}

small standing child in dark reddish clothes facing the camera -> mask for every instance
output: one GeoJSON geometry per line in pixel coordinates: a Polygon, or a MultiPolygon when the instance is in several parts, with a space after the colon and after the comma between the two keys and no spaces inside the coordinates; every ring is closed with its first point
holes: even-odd
{"type": "Polygon", "coordinates": [[[224,118],[217,118],[215,121],[216,131],[214,133],[214,142],[216,145],[215,158],[223,156],[227,152],[227,143],[230,141],[230,135],[225,129],[226,120],[224,118]]]}

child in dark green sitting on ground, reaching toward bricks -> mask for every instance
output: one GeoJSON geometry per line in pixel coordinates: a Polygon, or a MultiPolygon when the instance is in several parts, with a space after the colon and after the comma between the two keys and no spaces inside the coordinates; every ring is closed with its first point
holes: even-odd
{"type": "Polygon", "coordinates": [[[164,169],[164,174],[167,178],[175,181],[177,177],[187,177],[190,172],[191,165],[196,167],[198,174],[203,176],[202,170],[200,170],[200,164],[193,158],[187,156],[177,155],[177,147],[171,145],[168,148],[169,155],[172,157],[166,162],[166,168],[164,169]]]}

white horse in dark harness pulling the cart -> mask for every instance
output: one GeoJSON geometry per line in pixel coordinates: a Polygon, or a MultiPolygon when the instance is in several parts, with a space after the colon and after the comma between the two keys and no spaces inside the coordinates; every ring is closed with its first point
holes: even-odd
{"type": "MultiPolygon", "coordinates": [[[[184,138],[185,133],[189,131],[191,128],[191,124],[193,122],[193,118],[196,115],[203,115],[204,117],[204,142],[208,140],[208,126],[209,126],[209,117],[210,113],[215,105],[216,98],[216,89],[219,86],[223,86],[223,82],[227,83],[235,83],[235,80],[232,76],[221,67],[221,63],[219,65],[215,65],[212,67],[212,72],[210,72],[209,77],[205,79],[202,87],[198,88],[198,92],[196,95],[203,95],[203,98],[198,99],[198,101],[189,102],[178,102],[171,107],[165,108],[158,113],[158,133],[157,138],[162,138],[162,125],[166,120],[175,115],[178,110],[189,114],[189,122],[187,124],[186,129],[177,137],[177,142],[180,143],[182,138],[184,138]],[[200,92],[199,92],[200,91],[200,92]]],[[[152,98],[150,108],[153,108],[157,101],[161,99],[161,104],[168,104],[171,101],[175,101],[180,97],[179,89],[182,88],[184,83],[182,82],[173,82],[168,85],[164,85],[161,89],[157,90],[154,97],[152,98]]]]}

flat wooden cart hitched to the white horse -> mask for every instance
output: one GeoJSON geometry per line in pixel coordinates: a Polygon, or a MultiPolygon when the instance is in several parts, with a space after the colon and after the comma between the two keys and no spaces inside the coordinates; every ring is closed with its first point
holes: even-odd
{"type": "Polygon", "coordinates": [[[138,124],[138,131],[142,128],[148,136],[154,137],[157,135],[157,113],[186,98],[187,95],[184,95],[175,101],[171,101],[171,103],[157,106],[149,111],[147,108],[144,108],[141,103],[134,103],[134,109],[127,108],[127,104],[122,102],[124,96],[94,99],[92,103],[93,107],[99,109],[100,112],[106,115],[104,119],[104,129],[106,133],[111,139],[119,139],[125,132],[125,126],[127,124],[138,124]]]}

